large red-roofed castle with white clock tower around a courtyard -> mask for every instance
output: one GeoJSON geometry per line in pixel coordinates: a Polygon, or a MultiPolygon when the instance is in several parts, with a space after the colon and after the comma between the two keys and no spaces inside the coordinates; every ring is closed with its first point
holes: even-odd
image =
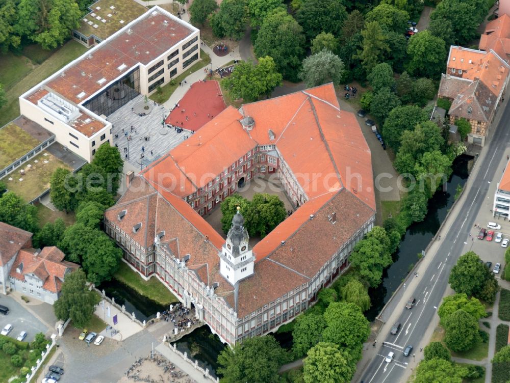
{"type": "Polygon", "coordinates": [[[227,107],[127,182],[105,212],[124,261],[231,345],[307,309],[375,219],[370,150],[332,84],[227,107]],[[251,248],[238,211],[223,239],[203,216],[268,174],[294,213],[251,248]]]}

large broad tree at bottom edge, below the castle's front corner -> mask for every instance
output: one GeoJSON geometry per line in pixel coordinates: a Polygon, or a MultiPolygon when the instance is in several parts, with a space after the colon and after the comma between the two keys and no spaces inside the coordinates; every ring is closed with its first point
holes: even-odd
{"type": "Polygon", "coordinates": [[[277,383],[278,370],[288,359],[272,336],[254,337],[236,344],[234,349],[225,347],[218,355],[218,372],[223,375],[224,383],[277,383]]]}

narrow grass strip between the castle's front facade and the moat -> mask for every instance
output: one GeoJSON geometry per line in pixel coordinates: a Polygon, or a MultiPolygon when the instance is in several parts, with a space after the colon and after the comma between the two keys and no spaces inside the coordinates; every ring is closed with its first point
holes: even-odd
{"type": "Polygon", "coordinates": [[[119,269],[114,274],[114,277],[139,294],[154,300],[160,305],[168,306],[173,302],[179,302],[179,299],[177,299],[156,277],[145,281],[124,262],[120,262],[119,269]]]}

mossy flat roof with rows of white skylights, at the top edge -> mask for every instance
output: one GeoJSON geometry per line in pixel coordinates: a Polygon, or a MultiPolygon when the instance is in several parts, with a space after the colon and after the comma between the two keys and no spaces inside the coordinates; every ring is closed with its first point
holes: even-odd
{"type": "Polygon", "coordinates": [[[76,31],[87,38],[94,35],[100,40],[106,40],[147,11],[133,0],[99,0],[89,9],[90,12],[80,20],[80,28],[76,31]]]}

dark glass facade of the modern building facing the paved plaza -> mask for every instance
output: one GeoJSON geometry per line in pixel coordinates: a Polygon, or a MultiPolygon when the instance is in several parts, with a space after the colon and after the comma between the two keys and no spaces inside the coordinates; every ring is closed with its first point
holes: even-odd
{"type": "Polygon", "coordinates": [[[98,116],[109,116],[118,108],[140,94],[140,69],[136,67],[126,73],[101,93],[84,103],[84,106],[98,116]]]}

